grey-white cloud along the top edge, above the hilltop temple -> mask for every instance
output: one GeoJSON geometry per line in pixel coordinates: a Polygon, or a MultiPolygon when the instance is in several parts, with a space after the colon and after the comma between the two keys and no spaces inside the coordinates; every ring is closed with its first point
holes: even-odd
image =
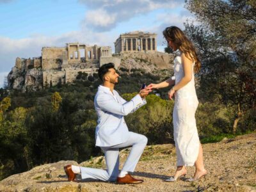
{"type": "Polygon", "coordinates": [[[160,8],[181,7],[184,0],[79,0],[92,10],[86,12],[84,25],[95,31],[109,31],[116,24],[136,15],[160,8]]]}

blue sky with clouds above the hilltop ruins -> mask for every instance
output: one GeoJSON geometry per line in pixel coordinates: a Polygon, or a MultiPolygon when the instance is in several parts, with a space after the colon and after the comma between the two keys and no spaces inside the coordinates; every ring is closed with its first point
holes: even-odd
{"type": "Polygon", "coordinates": [[[15,59],[41,56],[42,47],[66,43],[111,46],[122,33],[157,33],[195,20],[184,0],[0,0],[0,87],[15,59]]]}

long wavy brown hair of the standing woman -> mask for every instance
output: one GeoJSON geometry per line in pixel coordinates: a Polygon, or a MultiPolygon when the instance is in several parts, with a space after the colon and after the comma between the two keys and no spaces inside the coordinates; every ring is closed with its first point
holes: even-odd
{"type": "Polygon", "coordinates": [[[189,58],[189,60],[195,61],[194,71],[195,73],[199,72],[201,68],[201,62],[196,54],[195,46],[180,30],[180,28],[177,28],[175,26],[165,28],[163,31],[163,35],[167,41],[171,40],[181,52],[184,52],[185,56],[189,58]]]}

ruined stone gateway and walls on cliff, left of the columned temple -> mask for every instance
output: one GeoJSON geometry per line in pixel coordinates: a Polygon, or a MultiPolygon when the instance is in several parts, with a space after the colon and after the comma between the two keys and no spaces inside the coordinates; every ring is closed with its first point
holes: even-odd
{"type": "Polygon", "coordinates": [[[104,63],[120,65],[120,59],[112,56],[111,47],[88,46],[73,43],[66,47],[43,47],[42,56],[33,59],[17,58],[8,75],[10,88],[33,90],[51,84],[70,83],[78,72],[92,75],[104,63]]]}

